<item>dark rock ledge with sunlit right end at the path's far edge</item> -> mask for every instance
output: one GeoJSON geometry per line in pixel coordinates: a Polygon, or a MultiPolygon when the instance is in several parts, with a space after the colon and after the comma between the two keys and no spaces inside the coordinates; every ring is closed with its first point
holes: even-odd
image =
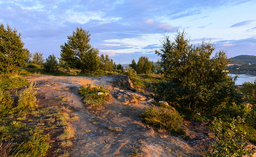
{"type": "Polygon", "coordinates": [[[118,87],[123,87],[125,89],[134,90],[132,81],[129,79],[128,76],[124,75],[111,75],[108,76],[113,79],[113,85],[118,87]]]}

